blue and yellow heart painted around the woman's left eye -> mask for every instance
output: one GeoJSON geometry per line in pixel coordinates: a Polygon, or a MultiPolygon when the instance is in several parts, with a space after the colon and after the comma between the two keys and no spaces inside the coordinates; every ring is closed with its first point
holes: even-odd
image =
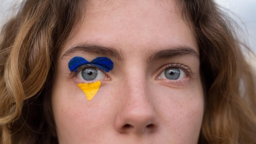
{"type": "Polygon", "coordinates": [[[102,71],[109,72],[113,69],[113,62],[106,57],[97,57],[91,62],[86,61],[82,57],[74,57],[69,61],[69,70],[76,74],[77,77],[85,82],[78,83],[77,86],[85,93],[86,99],[91,101],[97,94],[101,81],[94,81],[95,79],[102,79],[102,71]]]}

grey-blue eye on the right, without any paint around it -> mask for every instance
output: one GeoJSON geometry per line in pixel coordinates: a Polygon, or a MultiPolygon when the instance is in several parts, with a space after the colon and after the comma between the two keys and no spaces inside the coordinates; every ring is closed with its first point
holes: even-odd
{"type": "Polygon", "coordinates": [[[165,69],[159,76],[159,79],[170,79],[170,80],[177,80],[186,78],[187,75],[184,70],[178,67],[169,67],[165,69]]]}

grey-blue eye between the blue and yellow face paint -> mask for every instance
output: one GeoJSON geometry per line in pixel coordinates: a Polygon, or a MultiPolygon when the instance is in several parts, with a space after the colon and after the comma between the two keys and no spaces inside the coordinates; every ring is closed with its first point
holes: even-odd
{"type": "Polygon", "coordinates": [[[86,67],[78,72],[77,76],[80,80],[93,81],[99,79],[105,79],[106,75],[95,67],[86,67]]]}

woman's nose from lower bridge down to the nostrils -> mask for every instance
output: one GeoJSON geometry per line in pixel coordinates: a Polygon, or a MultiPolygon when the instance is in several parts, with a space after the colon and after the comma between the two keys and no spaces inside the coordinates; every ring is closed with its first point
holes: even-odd
{"type": "Polygon", "coordinates": [[[154,133],[159,127],[154,103],[142,82],[126,83],[122,92],[124,102],[115,118],[115,129],[120,133],[143,135],[154,133]]]}

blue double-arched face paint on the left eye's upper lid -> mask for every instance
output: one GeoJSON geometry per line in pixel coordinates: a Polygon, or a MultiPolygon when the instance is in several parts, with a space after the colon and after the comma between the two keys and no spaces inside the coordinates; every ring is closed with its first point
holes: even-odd
{"type": "Polygon", "coordinates": [[[90,62],[86,61],[82,57],[73,57],[69,61],[69,70],[76,72],[79,66],[87,65],[87,64],[97,66],[106,72],[109,72],[110,70],[113,69],[113,62],[106,57],[97,57],[90,62]]]}

